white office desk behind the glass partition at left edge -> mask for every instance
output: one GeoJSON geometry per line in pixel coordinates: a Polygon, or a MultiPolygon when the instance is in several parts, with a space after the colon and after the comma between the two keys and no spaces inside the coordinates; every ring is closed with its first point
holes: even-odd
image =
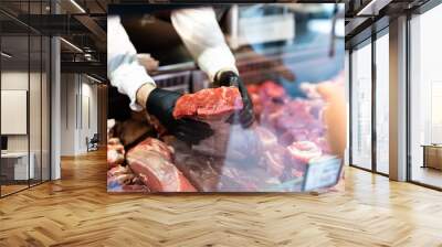
{"type": "Polygon", "coordinates": [[[6,152],[1,153],[1,175],[7,180],[28,180],[34,179],[34,159],[33,152],[29,153],[31,158],[28,170],[28,152],[6,152]]]}

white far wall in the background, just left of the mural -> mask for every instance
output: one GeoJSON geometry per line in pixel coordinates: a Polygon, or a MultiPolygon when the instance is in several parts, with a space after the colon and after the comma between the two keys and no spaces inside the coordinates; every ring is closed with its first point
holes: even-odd
{"type": "Polygon", "coordinates": [[[97,132],[97,86],[84,75],[62,74],[61,112],[61,154],[87,152],[86,138],[97,132]]]}

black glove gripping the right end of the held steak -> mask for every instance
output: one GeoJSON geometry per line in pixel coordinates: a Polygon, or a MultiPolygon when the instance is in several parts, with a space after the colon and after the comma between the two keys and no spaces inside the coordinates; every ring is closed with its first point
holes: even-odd
{"type": "Polygon", "coordinates": [[[240,76],[236,75],[236,73],[234,72],[227,71],[227,72],[221,72],[221,74],[215,76],[215,78],[218,79],[217,82],[214,82],[217,85],[234,86],[238,87],[238,89],[241,93],[243,108],[240,111],[240,114],[232,115],[232,117],[229,118],[229,121],[233,124],[241,122],[243,128],[250,127],[255,120],[253,112],[253,104],[248,93],[248,88],[244,86],[244,83],[242,82],[240,76]]]}

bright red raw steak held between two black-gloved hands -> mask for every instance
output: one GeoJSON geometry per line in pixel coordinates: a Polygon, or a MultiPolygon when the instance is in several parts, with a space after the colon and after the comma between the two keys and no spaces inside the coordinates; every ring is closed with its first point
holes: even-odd
{"type": "Polygon", "coordinates": [[[218,119],[242,109],[241,94],[236,87],[218,87],[181,96],[175,106],[173,117],[218,119]]]}

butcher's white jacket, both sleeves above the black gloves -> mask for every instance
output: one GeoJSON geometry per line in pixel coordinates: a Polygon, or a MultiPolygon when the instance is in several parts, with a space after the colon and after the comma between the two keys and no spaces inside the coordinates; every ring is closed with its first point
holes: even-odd
{"type": "MultiPolygon", "coordinates": [[[[238,73],[234,56],[225,44],[212,8],[175,10],[171,12],[171,22],[210,82],[221,69],[238,73]]],[[[147,83],[155,85],[155,82],[138,63],[137,52],[119,17],[108,17],[107,32],[107,76],[113,86],[130,98],[130,108],[139,111],[143,107],[136,103],[138,88],[147,83]]]]}

